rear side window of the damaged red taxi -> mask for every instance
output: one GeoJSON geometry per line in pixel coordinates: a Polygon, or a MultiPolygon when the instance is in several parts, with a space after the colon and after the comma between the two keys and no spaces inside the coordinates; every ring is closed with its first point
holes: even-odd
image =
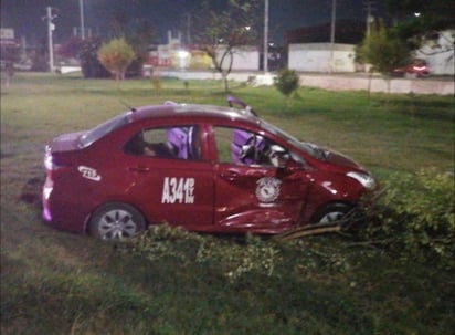
{"type": "Polygon", "coordinates": [[[125,145],[135,156],[174,159],[200,159],[198,126],[148,128],[136,133],[125,145]]]}

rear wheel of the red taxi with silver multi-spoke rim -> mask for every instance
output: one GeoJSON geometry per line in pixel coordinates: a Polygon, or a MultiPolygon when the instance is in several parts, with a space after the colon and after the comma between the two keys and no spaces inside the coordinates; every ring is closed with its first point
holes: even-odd
{"type": "Polygon", "coordinates": [[[123,240],[146,229],[144,216],[133,206],[109,202],[99,207],[88,223],[91,235],[102,240],[123,240]]]}

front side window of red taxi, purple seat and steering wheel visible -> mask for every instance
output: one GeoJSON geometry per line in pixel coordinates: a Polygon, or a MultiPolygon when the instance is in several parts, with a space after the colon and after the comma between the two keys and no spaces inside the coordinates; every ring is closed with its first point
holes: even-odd
{"type": "Polygon", "coordinates": [[[213,130],[220,163],[278,167],[282,159],[289,158],[282,146],[262,135],[221,126],[215,126],[213,130]]]}

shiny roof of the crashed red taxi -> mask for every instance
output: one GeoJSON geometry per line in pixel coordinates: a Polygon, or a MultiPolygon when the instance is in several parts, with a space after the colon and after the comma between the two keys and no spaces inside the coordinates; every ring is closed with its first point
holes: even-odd
{"type": "Polygon", "coordinates": [[[199,104],[165,103],[131,108],[128,112],[130,122],[149,118],[218,118],[230,121],[246,121],[257,123],[258,118],[248,109],[199,104]]]}

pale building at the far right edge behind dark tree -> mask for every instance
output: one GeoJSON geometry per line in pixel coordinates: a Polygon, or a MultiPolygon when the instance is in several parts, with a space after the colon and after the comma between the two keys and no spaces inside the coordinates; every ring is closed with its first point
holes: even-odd
{"type": "Polygon", "coordinates": [[[436,42],[428,41],[415,52],[417,59],[426,61],[432,74],[455,74],[454,35],[454,30],[440,32],[440,38],[436,42]]]}

